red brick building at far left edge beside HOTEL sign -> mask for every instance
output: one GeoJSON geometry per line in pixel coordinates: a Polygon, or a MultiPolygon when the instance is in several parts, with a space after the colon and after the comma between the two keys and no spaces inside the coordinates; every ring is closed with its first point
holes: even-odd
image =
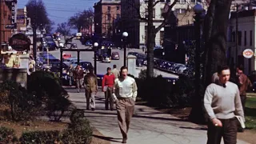
{"type": "Polygon", "coordinates": [[[0,1],[0,43],[8,42],[12,35],[10,28],[6,28],[6,25],[12,23],[11,19],[11,4],[10,2],[0,1]]]}

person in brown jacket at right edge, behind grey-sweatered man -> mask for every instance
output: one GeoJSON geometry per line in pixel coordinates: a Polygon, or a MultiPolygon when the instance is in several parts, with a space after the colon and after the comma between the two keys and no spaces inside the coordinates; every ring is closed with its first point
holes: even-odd
{"type": "Polygon", "coordinates": [[[250,89],[253,85],[250,82],[250,79],[246,76],[246,74],[243,74],[243,67],[242,66],[238,66],[237,67],[237,72],[236,72],[236,76],[237,76],[237,84],[238,84],[238,88],[239,88],[239,92],[240,92],[240,98],[241,98],[241,102],[242,102],[242,109],[245,111],[245,106],[246,106],[246,90],[248,90],[248,88],[250,89]]]}

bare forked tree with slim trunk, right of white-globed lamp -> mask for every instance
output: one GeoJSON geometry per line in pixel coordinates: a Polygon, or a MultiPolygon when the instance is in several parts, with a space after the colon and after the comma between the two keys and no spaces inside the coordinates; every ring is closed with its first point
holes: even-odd
{"type": "MultiPolygon", "coordinates": [[[[130,1],[131,2],[131,1],[130,1]]],[[[147,4],[147,18],[142,17],[140,13],[140,6],[135,7],[135,9],[138,11],[138,18],[142,22],[147,23],[147,39],[146,39],[146,48],[147,48],[147,71],[146,71],[146,77],[147,78],[152,78],[154,77],[154,44],[155,44],[155,37],[156,34],[158,33],[159,30],[162,29],[162,27],[166,26],[170,22],[170,16],[172,14],[172,8],[175,6],[175,4],[178,2],[178,0],[174,0],[174,2],[170,3],[166,1],[165,4],[165,13],[162,14],[162,17],[164,20],[162,23],[155,27],[154,26],[154,21],[153,21],[153,12],[154,12],[154,7],[157,6],[159,2],[162,2],[162,0],[158,0],[154,2],[154,0],[145,0],[147,4]]],[[[129,4],[130,6],[133,6],[133,3],[129,4]]]]}

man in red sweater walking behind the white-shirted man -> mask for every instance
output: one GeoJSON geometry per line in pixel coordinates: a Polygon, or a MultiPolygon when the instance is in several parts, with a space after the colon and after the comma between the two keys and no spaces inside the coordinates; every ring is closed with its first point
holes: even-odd
{"type": "Polygon", "coordinates": [[[110,110],[114,110],[114,98],[113,98],[113,86],[114,86],[114,74],[111,73],[111,68],[106,69],[107,73],[102,79],[102,91],[105,93],[105,109],[109,110],[109,101],[110,101],[110,110]]]}

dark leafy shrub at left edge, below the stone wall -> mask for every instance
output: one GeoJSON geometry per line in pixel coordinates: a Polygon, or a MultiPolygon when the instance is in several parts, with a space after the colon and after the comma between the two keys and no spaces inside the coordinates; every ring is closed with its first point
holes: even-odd
{"type": "Polygon", "coordinates": [[[14,121],[30,120],[38,113],[38,99],[28,94],[17,82],[6,81],[0,84],[0,104],[6,106],[5,116],[14,121]]]}

